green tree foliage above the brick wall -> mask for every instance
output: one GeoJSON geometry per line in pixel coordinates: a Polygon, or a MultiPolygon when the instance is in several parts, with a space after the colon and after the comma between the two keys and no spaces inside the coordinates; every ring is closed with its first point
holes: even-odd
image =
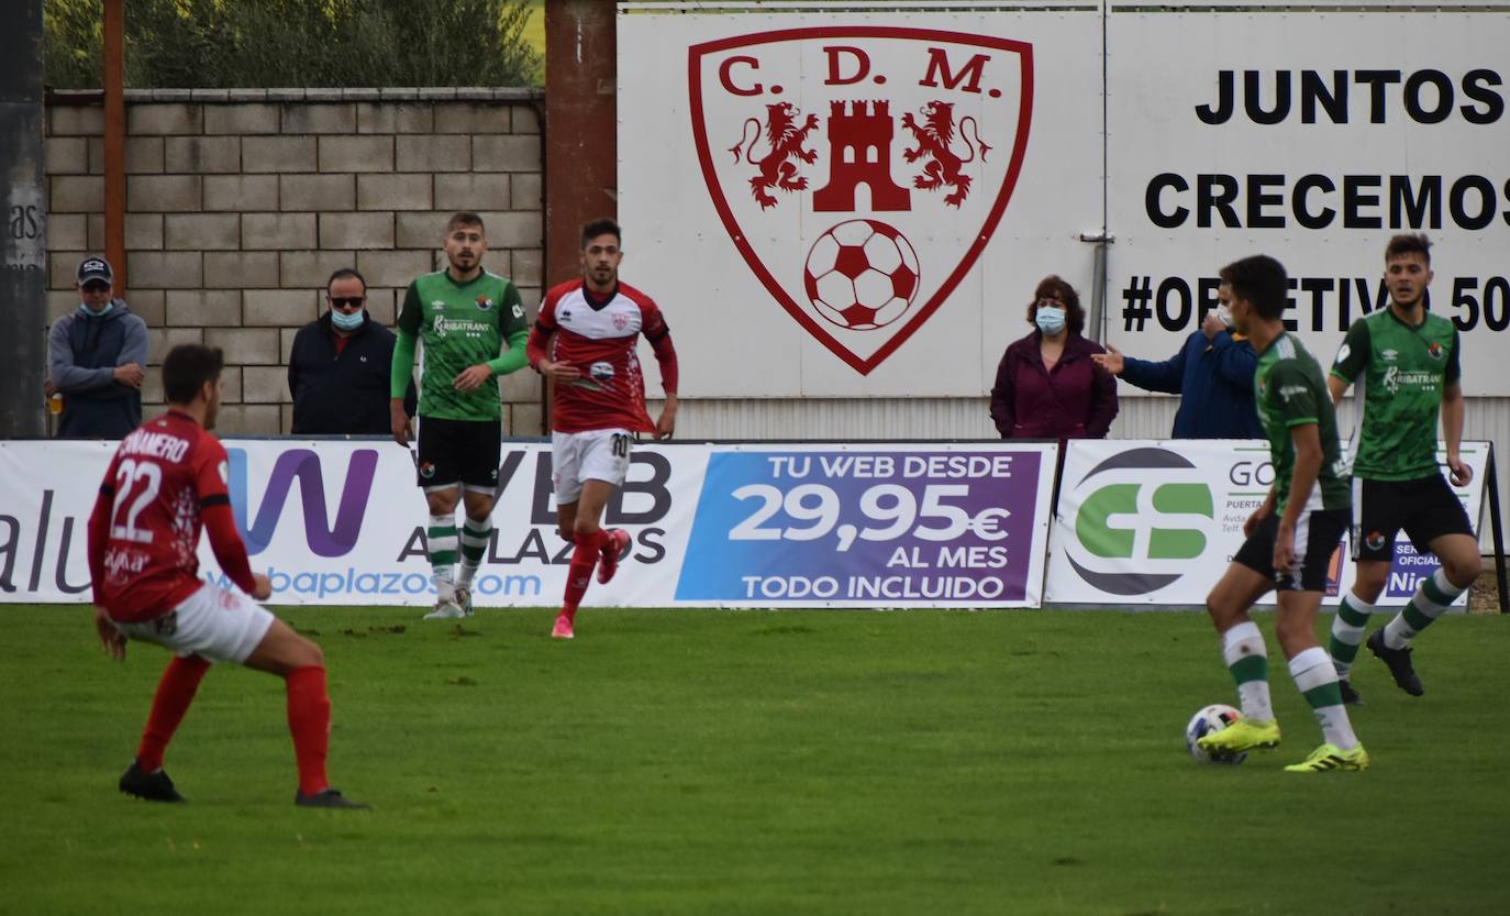
{"type": "MultiPolygon", "coordinates": [[[[125,0],[125,83],[151,89],[527,86],[530,0],[125,0]]],[[[103,0],[47,0],[47,83],[103,85],[103,0]]]]}

